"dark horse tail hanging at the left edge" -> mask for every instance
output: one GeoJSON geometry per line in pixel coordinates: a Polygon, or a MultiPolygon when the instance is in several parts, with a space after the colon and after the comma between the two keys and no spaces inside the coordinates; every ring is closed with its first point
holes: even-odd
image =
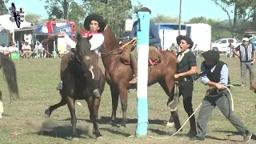
{"type": "Polygon", "coordinates": [[[17,74],[14,62],[2,53],[0,53],[0,68],[1,67],[10,91],[10,98],[19,98],[17,74]]]}

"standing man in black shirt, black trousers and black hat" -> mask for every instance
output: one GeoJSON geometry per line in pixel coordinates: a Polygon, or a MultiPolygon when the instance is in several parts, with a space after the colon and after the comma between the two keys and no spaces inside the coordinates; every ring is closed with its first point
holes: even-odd
{"type": "MultiPolygon", "coordinates": [[[[174,74],[174,78],[178,81],[178,96],[183,97],[183,106],[188,117],[190,117],[190,131],[187,136],[193,138],[197,134],[195,117],[193,115],[193,105],[192,105],[192,95],[194,90],[194,74],[197,71],[197,59],[193,52],[190,50],[194,42],[191,38],[183,35],[179,35],[177,38],[177,43],[181,48],[181,52],[177,55],[177,71],[174,74]]],[[[173,100],[172,97],[168,99],[167,106],[169,102],[173,100]]],[[[172,114],[170,122],[174,122],[176,130],[180,129],[180,122],[177,114],[172,114]]]]}

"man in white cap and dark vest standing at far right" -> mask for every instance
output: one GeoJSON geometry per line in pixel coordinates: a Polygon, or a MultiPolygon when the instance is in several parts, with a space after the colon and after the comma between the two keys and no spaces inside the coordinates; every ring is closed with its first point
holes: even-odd
{"type": "Polygon", "coordinates": [[[242,38],[242,44],[237,46],[233,53],[240,58],[242,87],[246,86],[247,69],[250,71],[250,85],[252,85],[254,83],[255,48],[249,43],[249,38],[242,38]]]}

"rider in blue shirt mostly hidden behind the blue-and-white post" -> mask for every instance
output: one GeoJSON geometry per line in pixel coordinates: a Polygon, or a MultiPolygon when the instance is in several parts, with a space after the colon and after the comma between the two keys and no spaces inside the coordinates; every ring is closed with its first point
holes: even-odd
{"type": "MultiPolygon", "coordinates": [[[[151,14],[151,10],[146,8],[146,7],[142,7],[138,11],[145,11],[145,12],[149,12],[151,14]]],[[[136,13],[138,13],[138,11],[136,13]]],[[[134,26],[133,26],[132,30],[130,31],[129,37],[130,38],[137,37],[137,30],[138,30],[138,21],[134,22],[134,26]]],[[[150,21],[150,42],[149,42],[149,45],[153,45],[153,46],[159,46],[160,45],[158,27],[152,21],[150,21]]],[[[137,62],[138,53],[137,53],[137,49],[133,50],[130,53],[130,59],[131,59],[132,64],[133,64],[134,78],[129,83],[130,84],[136,84],[137,83],[137,77],[138,77],[138,62],[137,62]]]]}

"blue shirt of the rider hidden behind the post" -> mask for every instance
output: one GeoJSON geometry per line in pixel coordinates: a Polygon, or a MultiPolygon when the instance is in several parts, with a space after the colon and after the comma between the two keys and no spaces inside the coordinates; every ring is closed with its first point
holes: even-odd
{"type": "MultiPolygon", "coordinates": [[[[138,21],[134,22],[134,26],[130,31],[130,38],[137,37],[137,30],[138,30],[138,21]]],[[[150,42],[149,44],[160,44],[160,37],[158,33],[158,26],[154,24],[154,22],[150,21],[150,42]]]]}

